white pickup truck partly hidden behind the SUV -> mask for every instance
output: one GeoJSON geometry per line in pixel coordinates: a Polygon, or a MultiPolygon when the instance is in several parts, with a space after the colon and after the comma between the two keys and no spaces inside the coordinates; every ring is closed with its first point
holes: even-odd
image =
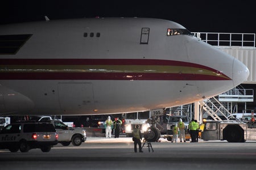
{"type": "Polygon", "coordinates": [[[59,143],[63,146],[68,146],[72,143],[73,146],[80,146],[86,141],[86,132],[84,128],[70,128],[59,120],[51,120],[51,122],[59,134],[59,143]]]}

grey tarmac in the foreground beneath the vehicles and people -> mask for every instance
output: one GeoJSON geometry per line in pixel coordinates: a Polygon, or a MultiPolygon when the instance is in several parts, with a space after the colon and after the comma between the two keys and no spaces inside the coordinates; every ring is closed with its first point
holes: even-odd
{"type": "Polygon", "coordinates": [[[256,141],[171,143],[160,138],[134,152],[131,138],[88,137],[81,146],[52,147],[27,153],[0,150],[2,169],[254,169],[256,141]],[[149,149],[149,150],[148,150],[149,149]],[[152,152],[152,149],[154,152],[152,152]]]}

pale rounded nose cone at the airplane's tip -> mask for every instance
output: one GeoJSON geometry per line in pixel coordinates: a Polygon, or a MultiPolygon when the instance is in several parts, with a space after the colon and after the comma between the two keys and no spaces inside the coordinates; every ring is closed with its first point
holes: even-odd
{"type": "Polygon", "coordinates": [[[245,82],[249,76],[248,68],[238,59],[234,58],[233,62],[233,84],[238,86],[239,84],[245,82]]]}

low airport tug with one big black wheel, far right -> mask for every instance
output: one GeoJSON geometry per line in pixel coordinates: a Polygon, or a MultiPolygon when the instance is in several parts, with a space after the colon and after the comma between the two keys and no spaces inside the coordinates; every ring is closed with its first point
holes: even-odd
{"type": "Polygon", "coordinates": [[[228,142],[256,140],[256,123],[253,121],[207,121],[201,139],[228,142]]]}

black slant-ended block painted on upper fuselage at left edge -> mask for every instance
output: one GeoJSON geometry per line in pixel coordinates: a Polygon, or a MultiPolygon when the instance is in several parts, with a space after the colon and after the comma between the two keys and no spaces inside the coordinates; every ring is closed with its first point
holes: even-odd
{"type": "Polygon", "coordinates": [[[16,54],[31,36],[32,34],[0,35],[0,55],[16,54]]]}

